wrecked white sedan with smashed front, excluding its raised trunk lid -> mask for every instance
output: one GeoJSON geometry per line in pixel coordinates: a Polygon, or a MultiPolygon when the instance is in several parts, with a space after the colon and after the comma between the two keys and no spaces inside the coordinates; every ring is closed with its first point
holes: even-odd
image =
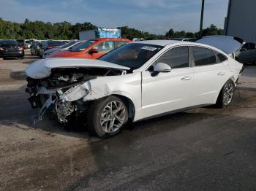
{"type": "Polygon", "coordinates": [[[29,101],[59,122],[80,117],[99,137],[133,122],[217,104],[230,105],[242,64],[206,44],[153,40],[98,60],[50,58],[27,69],[29,101]]]}

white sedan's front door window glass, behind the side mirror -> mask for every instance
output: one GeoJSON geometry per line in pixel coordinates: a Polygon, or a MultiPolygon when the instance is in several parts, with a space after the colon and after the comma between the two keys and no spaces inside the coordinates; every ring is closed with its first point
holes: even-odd
{"type": "Polygon", "coordinates": [[[157,63],[166,63],[172,69],[189,67],[189,48],[188,47],[174,47],[165,52],[157,63]]]}

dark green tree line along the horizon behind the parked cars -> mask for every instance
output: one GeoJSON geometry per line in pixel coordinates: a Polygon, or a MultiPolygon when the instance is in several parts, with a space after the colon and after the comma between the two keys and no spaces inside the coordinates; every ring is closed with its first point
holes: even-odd
{"type": "MultiPolygon", "coordinates": [[[[60,23],[42,22],[39,20],[31,21],[26,19],[24,23],[15,23],[3,20],[0,17],[0,39],[79,39],[79,31],[86,31],[98,28],[94,24],[69,23],[67,21],[60,23]]],[[[120,26],[122,37],[127,39],[170,39],[170,38],[195,38],[199,32],[174,31],[172,28],[163,35],[150,34],[146,31],[140,31],[128,26],[120,26]]],[[[211,25],[203,29],[203,36],[221,35],[223,30],[217,26],[211,25]]]]}

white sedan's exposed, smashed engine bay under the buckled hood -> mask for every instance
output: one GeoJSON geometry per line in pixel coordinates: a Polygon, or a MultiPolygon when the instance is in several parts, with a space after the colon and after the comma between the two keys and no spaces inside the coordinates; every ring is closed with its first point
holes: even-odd
{"type": "MultiPolygon", "coordinates": [[[[88,101],[83,97],[91,92],[91,79],[127,74],[127,70],[109,68],[58,68],[52,69],[49,77],[27,78],[26,92],[33,109],[39,108],[34,120],[42,120],[45,112],[54,115],[59,122],[67,122],[71,115],[86,112],[88,101]]],[[[95,91],[94,91],[95,93],[95,91]]],[[[102,96],[102,95],[100,95],[102,96]]],[[[89,101],[94,98],[89,98],[89,101]]],[[[97,96],[95,97],[97,99],[97,96]]]]}

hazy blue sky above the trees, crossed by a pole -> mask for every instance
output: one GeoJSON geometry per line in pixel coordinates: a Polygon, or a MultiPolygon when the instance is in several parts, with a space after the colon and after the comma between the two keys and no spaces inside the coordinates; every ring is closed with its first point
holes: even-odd
{"type": "MultiPolygon", "coordinates": [[[[203,27],[224,27],[228,0],[205,0],[203,27]]],[[[201,0],[0,0],[0,17],[23,23],[91,22],[95,26],[129,26],[152,34],[198,31],[201,0]]]]}

